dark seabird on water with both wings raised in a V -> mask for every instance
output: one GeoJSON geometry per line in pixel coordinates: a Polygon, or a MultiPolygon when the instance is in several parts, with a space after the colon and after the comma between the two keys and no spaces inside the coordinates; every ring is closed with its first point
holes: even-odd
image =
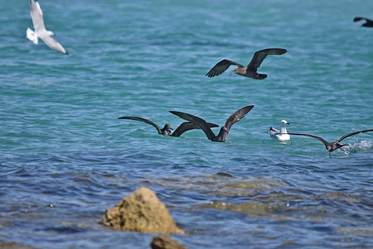
{"type": "Polygon", "coordinates": [[[170,111],[170,112],[172,114],[179,116],[182,119],[198,124],[201,127],[201,129],[204,131],[204,133],[206,134],[207,138],[209,138],[209,140],[213,142],[225,142],[225,140],[227,139],[228,133],[229,133],[229,129],[231,129],[232,125],[235,122],[240,121],[241,118],[243,118],[248,112],[250,112],[251,109],[253,109],[253,107],[254,106],[246,106],[242,109],[239,109],[238,111],[233,113],[231,116],[229,116],[229,118],[225,122],[225,125],[222,128],[220,128],[220,132],[217,136],[215,136],[213,131],[207,125],[208,123],[206,123],[204,119],[198,118],[197,116],[193,116],[191,114],[184,113],[184,112],[175,112],[175,111],[170,111]]]}

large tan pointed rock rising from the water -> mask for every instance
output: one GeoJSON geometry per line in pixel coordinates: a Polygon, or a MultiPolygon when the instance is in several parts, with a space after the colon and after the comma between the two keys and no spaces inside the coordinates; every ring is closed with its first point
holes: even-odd
{"type": "Polygon", "coordinates": [[[144,187],[124,197],[114,208],[107,209],[103,222],[123,231],[185,234],[176,227],[156,194],[144,187]]]}

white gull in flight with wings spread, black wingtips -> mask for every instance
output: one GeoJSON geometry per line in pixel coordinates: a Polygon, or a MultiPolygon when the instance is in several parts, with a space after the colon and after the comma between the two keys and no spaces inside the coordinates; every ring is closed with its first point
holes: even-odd
{"type": "Polygon", "coordinates": [[[52,31],[47,31],[46,27],[44,26],[43,12],[41,11],[38,0],[36,0],[36,3],[33,0],[30,0],[30,12],[35,32],[32,31],[30,28],[27,28],[26,38],[35,44],[38,44],[38,38],[40,38],[51,49],[68,55],[62,45],[54,40],[52,37],[50,37],[51,35],[54,35],[54,33],[52,31]]]}

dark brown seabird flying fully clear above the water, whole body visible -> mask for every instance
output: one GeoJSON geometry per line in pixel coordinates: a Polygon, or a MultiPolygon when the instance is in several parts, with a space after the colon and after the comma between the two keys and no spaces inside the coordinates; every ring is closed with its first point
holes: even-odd
{"type": "Polygon", "coordinates": [[[255,52],[253,59],[251,62],[246,66],[242,66],[232,60],[222,60],[218,62],[211,70],[205,75],[207,77],[214,77],[217,75],[222,74],[225,70],[229,68],[231,65],[236,65],[238,68],[233,69],[231,74],[238,74],[248,78],[253,78],[256,80],[263,80],[267,78],[266,74],[258,74],[257,69],[263,60],[267,57],[267,55],[283,55],[286,53],[286,49],[263,49],[260,51],[255,52]]]}

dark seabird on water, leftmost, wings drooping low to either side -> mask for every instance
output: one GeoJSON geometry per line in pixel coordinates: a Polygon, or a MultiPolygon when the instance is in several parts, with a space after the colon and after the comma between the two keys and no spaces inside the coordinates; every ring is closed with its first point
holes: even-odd
{"type": "MultiPolygon", "coordinates": [[[[176,128],[176,130],[171,133],[170,130],[173,130],[171,128],[171,125],[169,124],[166,124],[164,125],[163,129],[160,129],[158,125],[156,125],[154,122],[148,120],[148,119],[145,119],[145,118],[138,118],[138,117],[120,117],[118,119],[132,119],[132,120],[136,120],[136,121],[142,121],[142,122],[145,122],[147,124],[150,124],[150,125],[153,125],[157,131],[158,131],[158,134],[162,134],[164,136],[171,136],[171,137],[180,137],[181,134],[183,134],[185,131],[189,131],[189,130],[193,130],[193,129],[201,129],[197,124],[195,123],[191,123],[191,122],[184,122],[182,123],[181,125],[179,125],[178,128],[176,128]]],[[[216,125],[216,124],[211,124],[211,123],[208,123],[209,127],[219,127],[219,125],[216,125]]]]}

